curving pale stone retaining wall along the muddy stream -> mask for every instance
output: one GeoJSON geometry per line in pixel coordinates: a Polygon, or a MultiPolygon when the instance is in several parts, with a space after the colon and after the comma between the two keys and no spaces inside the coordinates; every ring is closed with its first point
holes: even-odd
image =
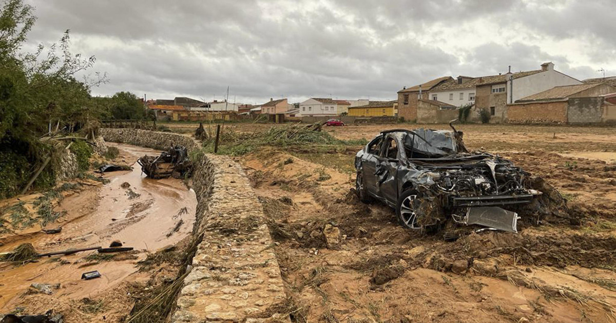
{"type": "MultiPolygon", "coordinates": [[[[100,129],[110,142],[159,150],[199,148],[192,138],[138,129],[100,129]]],[[[261,203],[241,166],[227,156],[203,154],[195,165],[201,236],[172,322],[288,321],[274,310],[286,300],[280,268],[261,203]]]]}

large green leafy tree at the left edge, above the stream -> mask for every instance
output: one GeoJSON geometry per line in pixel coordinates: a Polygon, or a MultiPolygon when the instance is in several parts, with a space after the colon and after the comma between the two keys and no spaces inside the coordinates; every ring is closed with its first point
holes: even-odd
{"type": "MultiPolygon", "coordinates": [[[[2,197],[13,194],[15,189],[6,188],[22,185],[49,156],[52,146],[38,138],[51,125],[75,129],[99,114],[91,105],[90,89],[105,82],[105,75],[86,74],[95,58],[70,52],[68,30],[58,44],[23,52],[36,20],[33,7],[23,0],[0,6],[0,160],[15,161],[0,167],[0,181],[7,180],[0,187],[2,197]]],[[[53,177],[48,171],[39,178],[49,183],[53,177]]]]}

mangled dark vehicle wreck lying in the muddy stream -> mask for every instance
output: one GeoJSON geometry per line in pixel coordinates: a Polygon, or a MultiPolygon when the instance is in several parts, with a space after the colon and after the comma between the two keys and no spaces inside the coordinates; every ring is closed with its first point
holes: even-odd
{"type": "Polygon", "coordinates": [[[141,169],[150,178],[184,178],[190,176],[192,164],[184,146],[173,146],[159,156],[143,156],[137,160],[141,169]]]}

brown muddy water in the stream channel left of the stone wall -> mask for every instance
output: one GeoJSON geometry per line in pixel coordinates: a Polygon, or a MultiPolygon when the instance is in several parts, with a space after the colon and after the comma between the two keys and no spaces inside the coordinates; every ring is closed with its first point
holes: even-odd
{"type": "Polygon", "coordinates": [[[106,173],[110,183],[92,187],[66,197],[55,210],[67,214],[47,228],[62,227],[59,234],[30,233],[12,237],[0,247],[0,252],[30,242],[38,252],[52,252],[92,246],[108,247],[111,241],[121,241],[134,247],[136,255],[127,260],[103,261],[91,266],[84,259],[96,251],[69,256],[42,258],[38,263],[14,266],[0,263],[0,313],[18,306],[19,295],[34,282],[62,286],[54,298],[73,299],[93,297],[120,282],[146,279],[136,273],[136,262],[147,252],[179,242],[192,231],[197,199],[194,191],[174,178],[152,180],[146,178],[136,163],[144,154],[160,151],[129,145],[115,145],[121,156],[116,161],[131,164],[133,170],[106,173]],[[123,188],[128,183],[129,188],[123,188]],[[185,210],[183,210],[185,208],[185,210]],[[174,231],[178,223],[179,229],[174,231]],[[60,261],[62,260],[62,261],[60,261]],[[81,274],[98,270],[102,277],[81,281],[81,274]]]}

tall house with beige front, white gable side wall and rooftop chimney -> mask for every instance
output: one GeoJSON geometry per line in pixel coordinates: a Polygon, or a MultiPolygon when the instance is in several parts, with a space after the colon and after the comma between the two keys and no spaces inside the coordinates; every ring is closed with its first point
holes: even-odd
{"type": "Polygon", "coordinates": [[[551,62],[541,64],[540,70],[498,74],[477,78],[475,116],[479,110],[490,111],[490,122],[507,120],[508,103],[551,89],[555,86],[578,85],[582,82],[554,70],[551,62]]]}

